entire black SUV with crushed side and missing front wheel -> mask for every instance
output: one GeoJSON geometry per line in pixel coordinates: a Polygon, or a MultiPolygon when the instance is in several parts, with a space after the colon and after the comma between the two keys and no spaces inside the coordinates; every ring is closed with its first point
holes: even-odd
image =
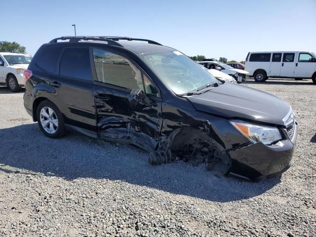
{"type": "Polygon", "coordinates": [[[24,75],[24,106],[48,137],[75,130],[133,144],[152,164],[222,160],[227,174],[254,181],[290,166],[297,122],[288,104],[153,40],[57,38],[24,75]]]}

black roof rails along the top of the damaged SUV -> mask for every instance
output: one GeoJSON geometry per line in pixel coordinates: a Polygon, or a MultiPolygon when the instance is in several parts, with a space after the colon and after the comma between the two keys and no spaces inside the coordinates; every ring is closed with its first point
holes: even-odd
{"type": "Polygon", "coordinates": [[[106,41],[108,44],[117,45],[123,47],[118,40],[128,40],[128,41],[146,41],[151,44],[162,45],[154,40],[146,40],[146,39],[136,39],[130,37],[120,37],[120,36],[62,36],[59,38],[55,38],[50,40],[50,43],[56,43],[57,40],[69,40],[69,42],[79,42],[80,40],[98,40],[98,41],[106,41]]]}

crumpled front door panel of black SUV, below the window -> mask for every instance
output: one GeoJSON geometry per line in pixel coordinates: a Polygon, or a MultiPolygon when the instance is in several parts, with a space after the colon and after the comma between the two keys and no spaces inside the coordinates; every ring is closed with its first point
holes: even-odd
{"type": "Polygon", "coordinates": [[[148,96],[150,103],[131,105],[127,99],[129,90],[98,82],[94,86],[99,136],[155,150],[162,123],[161,99],[148,96]]]}

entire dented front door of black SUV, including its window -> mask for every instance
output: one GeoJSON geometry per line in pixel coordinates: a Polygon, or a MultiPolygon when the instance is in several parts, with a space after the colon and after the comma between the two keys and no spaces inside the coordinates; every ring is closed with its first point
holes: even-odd
{"type": "Polygon", "coordinates": [[[118,52],[91,48],[91,55],[99,136],[148,151],[155,149],[162,123],[161,100],[153,96],[146,103],[131,103],[127,98],[133,89],[146,93],[152,86],[149,79],[132,59],[118,52]]]}

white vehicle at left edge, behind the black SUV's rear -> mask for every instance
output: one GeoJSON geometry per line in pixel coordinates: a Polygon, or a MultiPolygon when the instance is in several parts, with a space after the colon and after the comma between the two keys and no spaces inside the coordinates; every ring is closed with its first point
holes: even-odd
{"type": "Polygon", "coordinates": [[[0,85],[6,85],[13,92],[24,86],[24,70],[28,68],[32,57],[20,53],[0,52],[0,85]]]}

